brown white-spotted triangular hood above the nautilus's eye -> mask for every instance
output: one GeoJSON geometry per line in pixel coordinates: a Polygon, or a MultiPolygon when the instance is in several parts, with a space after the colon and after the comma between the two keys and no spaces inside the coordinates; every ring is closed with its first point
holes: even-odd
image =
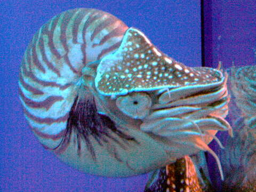
{"type": "Polygon", "coordinates": [[[100,61],[95,87],[103,95],[122,95],[184,86],[216,86],[223,80],[217,69],[191,68],[168,57],[145,34],[131,27],[118,50],[100,61]]]}

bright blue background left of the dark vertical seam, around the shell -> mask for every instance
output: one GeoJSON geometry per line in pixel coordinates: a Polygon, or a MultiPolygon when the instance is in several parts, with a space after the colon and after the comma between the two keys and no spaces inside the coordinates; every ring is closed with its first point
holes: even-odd
{"type": "Polygon", "coordinates": [[[43,149],[25,121],[18,76],[30,39],[54,15],[91,7],[141,29],[164,53],[201,65],[200,1],[0,1],[0,191],[143,191],[147,175],[103,178],[78,172],[43,149]]]}

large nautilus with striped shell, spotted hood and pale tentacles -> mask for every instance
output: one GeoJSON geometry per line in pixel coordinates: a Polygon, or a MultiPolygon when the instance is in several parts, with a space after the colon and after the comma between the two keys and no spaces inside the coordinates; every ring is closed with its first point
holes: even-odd
{"type": "Polygon", "coordinates": [[[168,57],[109,13],[75,9],[37,31],[19,87],[46,149],[86,173],[127,177],[199,150],[215,156],[207,144],[231,133],[226,82],[218,69],[168,57]]]}

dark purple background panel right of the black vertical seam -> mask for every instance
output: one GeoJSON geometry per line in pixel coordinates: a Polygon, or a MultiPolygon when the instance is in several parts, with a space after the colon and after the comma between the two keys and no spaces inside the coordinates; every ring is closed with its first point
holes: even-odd
{"type": "MultiPolygon", "coordinates": [[[[208,67],[217,67],[222,61],[225,69],[255,65],[256,1],[255,0],[207,0],[210,4],[206,18],[212,21],[212,61],[208,67]]],[[[209,25],[209,23],[206,23],[209,25]]],[[[209,26],[206,26],[209,29],[209,26]]]]}

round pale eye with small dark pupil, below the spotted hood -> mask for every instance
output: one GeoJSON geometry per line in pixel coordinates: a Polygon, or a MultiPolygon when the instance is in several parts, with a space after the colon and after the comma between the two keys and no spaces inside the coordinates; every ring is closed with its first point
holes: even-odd
{"type": "Polygon", "coordinates": [[[116,106],[127,116],[134,119],[143,119],[149,114],[151,98],[147,93],[131,93],[120,96],[116,100],[116,106]]]}

